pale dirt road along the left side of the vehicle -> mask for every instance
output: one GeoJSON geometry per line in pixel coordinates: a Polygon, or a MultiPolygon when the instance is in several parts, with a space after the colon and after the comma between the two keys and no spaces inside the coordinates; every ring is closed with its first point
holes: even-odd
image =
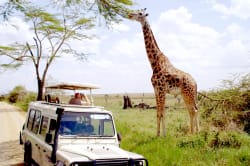
{"type": "Polygon", "coordinates": [[[25,112],[0,102],[0,166],[23,165],[23,150],[19,145],[19,131],[25,112]]]}

